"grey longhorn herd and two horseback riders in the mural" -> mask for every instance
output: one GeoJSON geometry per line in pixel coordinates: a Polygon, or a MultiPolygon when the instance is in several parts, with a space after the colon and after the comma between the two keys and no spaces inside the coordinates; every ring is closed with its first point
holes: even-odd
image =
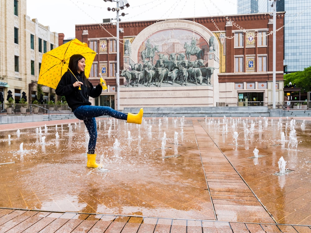
{"type": "Polygon", "coordinates": [[[196,45],[195,39],[190,44],[185,42],[184,52],[160,53],[159,45],[153,46],[147,39],[139,63],[129,62],[128,70],[121,71],[120,76],[126,79],[125,86],[212,85],[215,68],[207,66],[207,60],[203,60],[204,52],[196,45]]]}

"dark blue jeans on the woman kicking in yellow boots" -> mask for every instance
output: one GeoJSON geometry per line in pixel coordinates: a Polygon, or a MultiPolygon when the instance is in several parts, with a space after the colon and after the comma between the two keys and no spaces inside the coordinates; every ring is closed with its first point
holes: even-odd
{"type": "Polygon", "coordinates": [[[95,153],[96,139],[97,139],[97,126],[95,117],[100,116],[111,116],[121,120],[127,120],[128,115],[123,112],[118,112],[111,107],[106,106],[93,106],[93,105],[82,105],[77,107],[73,114],[79,119],[82,120],[87,128],[87,131],[90,135],[89,145],[88,145],[88,154],[95,153]]]}

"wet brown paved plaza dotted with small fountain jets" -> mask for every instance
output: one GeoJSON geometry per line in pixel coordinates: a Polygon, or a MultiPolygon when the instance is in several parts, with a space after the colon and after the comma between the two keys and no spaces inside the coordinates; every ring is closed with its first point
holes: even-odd
{"type": "Polygon", "coordinates": [[[310,117],[97,122],[96,169],[77,119],[1,125],[0,232],[311,232],[310,117]]]}

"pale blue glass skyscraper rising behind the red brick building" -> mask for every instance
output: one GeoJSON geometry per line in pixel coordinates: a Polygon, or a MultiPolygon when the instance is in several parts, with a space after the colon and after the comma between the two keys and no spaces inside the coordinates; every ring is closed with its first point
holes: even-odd
{"type": "MultiPolygon", "coordinates": [[[[272,12],[273,1],[238,0],[238,14],[272,12]],[[251,6],[257,2],[257,12],[251,6]]],[[[286,11],[284,24],[285,73],[311,66],[310,0],[277,0],[276,11],[286,11]]]]}

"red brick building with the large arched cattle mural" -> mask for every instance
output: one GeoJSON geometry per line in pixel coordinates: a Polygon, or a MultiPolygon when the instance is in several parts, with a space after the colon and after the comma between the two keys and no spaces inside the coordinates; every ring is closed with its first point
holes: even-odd
{"type": "MultiPolygon", "coordinates": [[[[278,12],[276,101],[284,96],[283,25],[284,12],[278,12]]],[[[116,101],[121,110],[140,106],[207,107],[221,102],[272,101],[272,30],[270,14],[245,14],[120,22],[120,43],[116,42],[115,25],[76,25],[76,38],[97,52],[91,82],[97,84],[101,73],[109,85],[107,92],[95,99],[95,105],[115,107],[119,46],[120,70],[132,74],[132,79],[120,77],[120,99],[116,101]],[[151,69],[156,71],[161,70],[163,62],[167,74],[161,71],[164,77],[159,72],[155,80],[149,79],[146,71],[140,75],[140,67],[150,60],[156,67],[151,69]],[[193,65],[199,60],[203,64],[193,65]],[[208,74],[205,67],[209,68],[208,74]],[[183,73],[185,69],[188,75],[183,73]],[[188,76],[186,81],[183,75],[188,76]]]]}

